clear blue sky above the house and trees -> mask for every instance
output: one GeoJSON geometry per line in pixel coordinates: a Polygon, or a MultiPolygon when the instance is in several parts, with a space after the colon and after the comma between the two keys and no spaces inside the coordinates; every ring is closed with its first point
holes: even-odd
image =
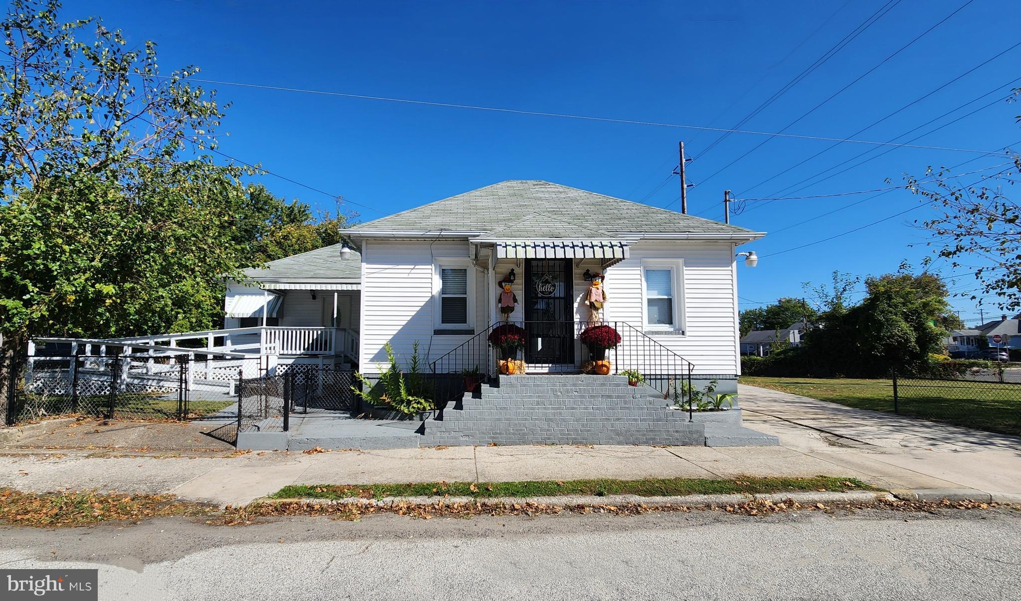
{"type": "MultiPolygon", "coordinates": [[[[895,0],[894,0],[895,1],[895,0]]],[[[742,129],[778,132],[876,65],[786,133],[846,138],[1021,41],[1021,11],[1011,0],[974,0],[886,60],[966,0],[901,0],[827,62],[742,129]]],[[[258,84],[504,107],[620,119],[733,128],[822,57],[887,0],[855,2],[296,2],[234,0],[69,1],[65,16],[100,15],[130,43],[158,43],[160,66],[202,68],[200,77],[258,84]],[[814,34],[814,35],[813,35],[814,34]],[[811,37],[810,37],[811,35],[811,37]]],[[[855,136],[885,142],[971,100],[915,133],[913,144],[995,150],[1021,141],[1017,104],[995,102],[1021,85],[1021,47],[855,136]],[[996,87],[1000,86],[998,89],[996,87]],[[989,95],[983,94],[993,92],[989,95]]],[[[723,191],[735,197],[824,195],[898,183],[927,165],[974,171],[1002,156],[897,148],[825,182],[790,185],[870,147],[678,128],[600,122],[335,96],[214,86],[233,101],[222,150],[308,186],[339,194],[361,219],[510,179],[548,180],[679,210],[679,185],[667,180],[684,140],[689,212],[722,219],[723,191]],[[704,153],[704,154],[703,154],[704,153]],[[711,177],[712,176],[712,177],[711,177]],[[667,180],[665,184],[664,181],[667,180]],[[662,187],[659,187],[663,184],[662,187]],[[658,188],[659,187],[659,188],[658,188]],[[784,190],[787,189],[787,190],[784,190]],[[358,203],[357,206],[353,203],[358,203]]],[[[1014,145],[1015,150],[1021,144],[1014,145]]],[[[834,169],[884,152],[880,148],[834,169]]],[[[971,184],[995,169],[965,176],[971,184]]],[[[829,171],[826,174],[832,173],[829,171]]],[[[333,209],[325,195],[265,176],[275,193],[333,209]]],[[[810,180],[809,183],[815,180],[810,180]]],[[[879,274],[927,251],[910,219],[919,208],[832,241],[789,252],[912,208],[893,191],[804,224],[794,223],[869,195],[745,203],[732,222],[771,232],[742,250],[763,259],[741,267],[742,308],[803,295],[833,269],[879,274]],[[757,206],[759,205],[759,206],[757,206]],[[780,253],[775,254],[773,253],[780,253]],[[770,256],[773,255],[773,256],[770,256]]],[[[493,207],[500,210],[500,207],[493,207]]],[[[592,216],[598,227],[598,216],[592,216]]],[[[978,265],[980,263],[975,262],[978,265]]],[[[952,271],[945,262],[937,270],[952,271]]],[[[958,268],[956,272],[969,269],[958,268]]],[[[970,277],[953,288],[968,291],[970,277]]],[[[956,299],[967,322],[974,301],[956,299]]],[[[986,305],[985,315],[999,314],[986,305]]]]}

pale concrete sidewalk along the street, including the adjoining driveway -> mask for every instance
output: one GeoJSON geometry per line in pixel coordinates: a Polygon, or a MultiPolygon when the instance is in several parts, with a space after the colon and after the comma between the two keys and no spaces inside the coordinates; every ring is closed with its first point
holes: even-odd
{"type": "Polygon", "coordinates": [[[887,489],[1021,502],[1021,439],[740,387],[745,425],[778,447],[506,446],[240,456],[0,456],[0,487],[173,493],[247,503],[291,484],[737,475],[859,478],[887,489]]]}

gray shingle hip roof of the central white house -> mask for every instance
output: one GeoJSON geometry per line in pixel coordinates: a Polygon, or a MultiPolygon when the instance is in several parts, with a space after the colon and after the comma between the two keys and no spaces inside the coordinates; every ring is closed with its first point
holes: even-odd
{"type": "MultiPolygon", "coordinates": [[[[612,233],[642,234],[745,234],[750,230],[712,219],[685,215],[629,200],[587,192],[541,180],[508,180],[395,213],[354,228],[356,231],[457,230],[483,233],[502,232],[513,238],[522,235],[578,238],[599,236],[586,221],[612,233]],[[541,214],[546,219],[529,219],[541,214]],[[556,221],[557,227],[550,227],[556,221]],[[558,227],[571,226],[570,233],[558,227]],[[509,232],[508,232],[509,230],[509,232]]],[[[605,233],[602,233],[604,235],[605,233]]]]}

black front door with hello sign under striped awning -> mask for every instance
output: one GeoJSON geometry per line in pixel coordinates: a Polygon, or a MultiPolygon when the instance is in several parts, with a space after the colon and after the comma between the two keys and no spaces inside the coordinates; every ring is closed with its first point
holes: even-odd
{"type": "Polygon", "coordinates": [[[525,330],[530,364],[574,365],[574,285],[570,259],[525,260],[525,330]]]}

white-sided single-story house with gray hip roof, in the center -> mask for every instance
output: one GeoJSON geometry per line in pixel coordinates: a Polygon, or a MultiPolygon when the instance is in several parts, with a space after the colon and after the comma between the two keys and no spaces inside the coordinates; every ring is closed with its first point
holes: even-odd
{"type": "Polygon", "coordinates": [[[418,342],[428,361],[484,346],[502,318],[497,283],[514,269],[509,319],[535,330],[530,373],[581,365],[584,276],[602,271],[603,320],[648,347],[619,357],[667,349],[696,375],[731,379],[740,370],[736,247],[764,236],[542,181],[500,182],[343,234],[361,251],[358,364],[370,377],[386,367],[387,343],[406,358],[418,342]]]}

